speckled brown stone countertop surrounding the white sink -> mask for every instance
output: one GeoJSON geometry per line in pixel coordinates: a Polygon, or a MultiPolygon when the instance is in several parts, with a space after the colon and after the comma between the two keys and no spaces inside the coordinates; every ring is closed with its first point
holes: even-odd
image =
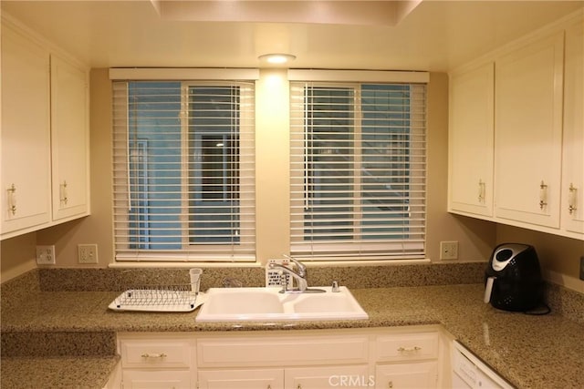
{"type": "MultiPolygon", "coordinates": [[[[388,283],[399,280],[395,287],[380,282],[368,283],[366,287],[357,282],[345,283],[344,274],[349,277],[354,273],[341,270],[335,278],[349,285],[369,313],[369,320],[294,323],[199,323],[195,322],[198,311],[113,312],[108,305],[119,292],[109,292],[116,290],[113,283],[104,286],[99,282],[99,277],[104,282],[115,279],[110,270],[99,270],[97,279],[94,275],[88,277],[87,271],[34,271],[8,287],[3,285],[1,386],[101,388],[118,361],[115,335],[122,332],[286,331],[442,324],[519,388],[584,387],[584,296],[574,292],[576,299],[570,297],[569,303],[565,303],[564,292],[552,288],[551,295],[548,293],[548,298],[551,296],[548,302],[555,304],[551,314],[530,316],[497,311],[482,302],[483,285],[478,283],[482,265],[473,266],[454,267],[450,273],[435,267],[413,268],[413,272],[405,267],[392,268],[389,275],[380,278],[388,283]],[[409,278],[404,277],[404,271],[409,278]],[[439,283],[469,280],[474,283],[422,286],[421,282],[435,282],[433,273],[442,274],[439,283]],[[69,280],[65,285],[63,275],[69,280]],[[39,278],[40,287],[34,285],[39,278]],[[29,282],[32,287],[27,285],[29,282]],[[57,283],[60,287],[50,287],[57,283]],[[5,299],[6,294],[16,298],[5,299]],[[54,381],[56,376],[60,378],[54,381]]],[[[372,276],[375,271],[379,272],[360,269],[363,276],[372,276]]],[[[256,271],[252,273],[257,278],[254,282],[262,282],[256,271]]],[[[114,275],[120,274],[127,276],[125,272],[114,275]]],[[[328,277],[329,274],[323,279],[328,277]]],[[[216,282],[220,282],[219,278],[216,282]]],[[[217,285],[207,283],[204,288],[210,286],[217,285]]]]}

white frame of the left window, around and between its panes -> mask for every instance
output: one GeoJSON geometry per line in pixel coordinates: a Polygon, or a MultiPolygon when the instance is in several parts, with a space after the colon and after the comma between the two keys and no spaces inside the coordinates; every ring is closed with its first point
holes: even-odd
{"type": "MultiPolygon", "coordinates": [[[[114,82],[114,97],[113,104],[120,103],[120,98],[116,97],[116,86],[120,84],[125,87],[123,93],[125,95],[123,98],[124,106],[114,107],[113,113],[113,148],[114,148],[114,188],[113,188],[113,207],[114,207],[114,254],[115,261],[255,261],[255,83],[250,80],[237,80],[237,81],[227,81],[227,80],[172,80],[172,79],[161,79],[161,80],[145,80],[145,79],[133,79],[114,82]],[[129,84],[130,82],[141,82],[141,81],[154,81],[154,82],[177,82],[180,83],[180,99],[181,107],[179,113],[180,120],[180,138],[181,138],[181,208],[180,208],[180,225],[182,237],[181,248],[171,249],[171,250],[150,250],[141,248],[131,248],[130,239],[124,239],[122,237],[123,231],[130,231],[130,197],[123,199],[120,190],[116,189],[117,185],[124,185],[124,181],[127,182],[129,186],[128,196],[131,196],[130,189],[130,129],[129,129],[129,84]],[[190,116],[189,116],[189,93],[191,87],[242,87],[245,88],[245,102],[242,101],[238,106],[240,108],[239,118],[240,123],[238,126],[238,137],[239,137],[239,147],[238,147],[238,191],[240,193],[240,204],[238,205],[239,211],[239,227],[238,231],[250,230],[252,234],[241,233],[239,234],[239,243],[226,244],[196,244],[190,241],[190,224],[192,222],[190,215],[190,201],[191,195],[189,193],[189,188],[191,186],[190,179],[193,177],[189,173],[191,154],[189,153],[189,143],[191,141],[191,126],[190,126],[190,116]],[[249,109],[241,109],[248,104],[249,109]],[[125,115],[120,115],[125,113],[125,115]],[[116,116],[119,115],[119,116],[116,116]],[[125,123],[121,125],[120,122],[125,123]],[[124,129],[120,129],[123,126],[124,129]],[[245,130],[242,130],[245,128],[245,130]],[[248,129],[249,128],[249,129],[248,129]],[[116,137],[125,136],[124,139],[125,146],[120,148],[116,146],[116,137]],[[244,137],[242,139],[241,137],[244,137]],[[245,152],[242,155],[241,148],[248,148],[249,152],[245,152]],[[251,153],[251,154],[250,154],[251,153]],[[116,160],[117,159],[117,160],[116,160]],[[124,170],[116,168],[116,165],[120,165],[120,159],[125,160],[127,167],[124,170]],[[242,160],[243,159],[243,160],[242,160]],[[245,169],[245,166],[251,166],[251,169],[245,169]],[[120,183],[121,182],[121,183],[120,183]],[[242,188],[245,187],[245,190],[242,188]],[[248,190],[250,188],[251,190],[248,190]],[[242,191],[244,193],[242,193],[242,191]],[[245,206],[243,203],[245,202],[245,206]],[[247,210],[253,210],[248,212],[247,210]],[[122,227],[119,227],[120,224],[122,227]],[[237,250],[236,246],[245,246],[245,250],[237,250]],[[223,249],[223,250],[221,250],[223,249]]],[[[230,235],[232,236],[232,235],[230,235]]]]}

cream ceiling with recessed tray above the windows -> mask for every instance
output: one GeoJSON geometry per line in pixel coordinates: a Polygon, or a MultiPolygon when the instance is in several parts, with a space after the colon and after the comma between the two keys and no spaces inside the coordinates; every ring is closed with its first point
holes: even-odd
{"type": "Polygon", "coordinates": [[[388,5],[400,2],[389,1],[190,3],[3,0],[1,5],[3,13],[89,67],[260,67],[258,56],[284,52],[297,56],[291,67],[298,68],[428,71],[448,71],[584,10],[584,1],[424,0],[408,2],[405,11],[403,4],[388,5]],[[318,4],[326,6],[315,14],[310,6],[318,4]]]}

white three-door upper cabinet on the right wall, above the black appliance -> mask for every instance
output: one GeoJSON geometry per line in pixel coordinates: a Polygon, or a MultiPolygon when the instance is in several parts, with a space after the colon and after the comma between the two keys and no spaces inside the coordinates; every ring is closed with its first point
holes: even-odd
{"type": "Polygon", "coordinates": [[[570,15],[450,74],[450,212],[584,239],[583,30],[570,15]]]}

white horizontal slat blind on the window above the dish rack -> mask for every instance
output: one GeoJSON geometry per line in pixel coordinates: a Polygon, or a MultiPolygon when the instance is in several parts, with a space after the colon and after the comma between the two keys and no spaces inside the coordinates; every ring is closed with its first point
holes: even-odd
{"type": "Polygon", "coordinates": [[[113,83],[117,261],[255,259],[254,84],[113,83]]]}

